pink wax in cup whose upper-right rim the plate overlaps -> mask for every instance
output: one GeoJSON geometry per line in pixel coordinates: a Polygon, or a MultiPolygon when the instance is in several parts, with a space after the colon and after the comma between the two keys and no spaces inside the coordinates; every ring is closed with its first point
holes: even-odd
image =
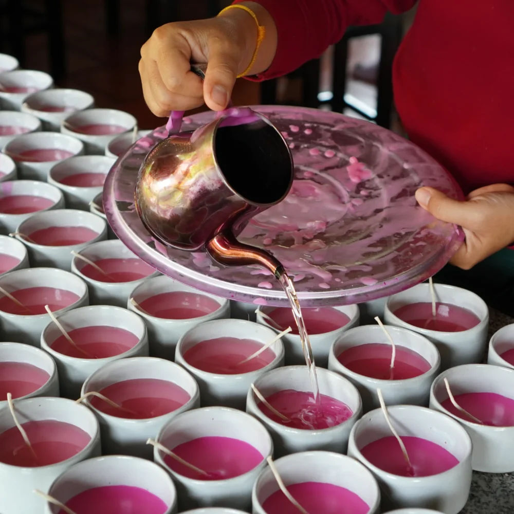
{"type": "Polygon", "coordinates": [[[100,259],[95,264],[108,274],[106,277],[94,266],[86,264],[80,272],[86,277],[100,282],[132,282],[151,275],[155,269],[141,259],[100,259]]]}

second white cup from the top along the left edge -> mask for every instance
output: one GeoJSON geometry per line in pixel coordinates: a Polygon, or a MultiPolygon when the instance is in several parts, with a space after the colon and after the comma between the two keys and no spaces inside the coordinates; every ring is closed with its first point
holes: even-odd
{"type": "Polygon", "coordinates": [[[43,71],[17,69],[0,73],[0,85],[5,87],[26,87],[29,91],[9,93],[0,89],[0,106],[6,111],[20,111],[25,99],[36,91],[53,87],[53,79],[43,71]]]}

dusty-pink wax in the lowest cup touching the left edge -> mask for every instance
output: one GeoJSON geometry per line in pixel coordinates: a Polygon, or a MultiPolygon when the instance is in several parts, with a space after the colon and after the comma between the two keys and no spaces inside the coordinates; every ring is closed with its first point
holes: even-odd
{"type": "Polygon", "coordinates": [[[49,466],[77,455],[91,440],[84,430],[63,421],[28,421],[22,427],[37,460],[17,427],[12,427],[0,434],[0,462],[25,468],[49,466]]]}

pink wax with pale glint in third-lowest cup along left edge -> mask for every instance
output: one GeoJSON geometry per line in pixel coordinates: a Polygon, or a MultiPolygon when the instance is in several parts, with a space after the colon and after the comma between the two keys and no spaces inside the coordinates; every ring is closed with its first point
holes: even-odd
{"type": "Polygon", "coordinates": [[[46,314],[45,305],[48,305],[50,310],[55,312],[80,300],[79,295],[74,292],[58,289],[57,287],[27,287],[26,289],[10,291],[10,293],[16,300],[29,308],[30,312],[6,296],[0,298],[0,310],[4,313],[21,316],[46,314]]]}

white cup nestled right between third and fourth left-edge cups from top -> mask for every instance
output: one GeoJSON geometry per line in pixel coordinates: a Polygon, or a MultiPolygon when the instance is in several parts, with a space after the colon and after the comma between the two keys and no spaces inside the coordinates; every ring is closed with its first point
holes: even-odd
{"type": "Polygon", "coordinates": [[[46,182],[50,169],[64,159],[51,161],[20,160],[16,156],[28,150],[64,150],[70,157],[84,153],[82,141],[75,137],[56,132],[34,132],[22,134],[9,141],[4,152],[16,161],[18,175],[26,180],[41,180],[46,182]]]}

